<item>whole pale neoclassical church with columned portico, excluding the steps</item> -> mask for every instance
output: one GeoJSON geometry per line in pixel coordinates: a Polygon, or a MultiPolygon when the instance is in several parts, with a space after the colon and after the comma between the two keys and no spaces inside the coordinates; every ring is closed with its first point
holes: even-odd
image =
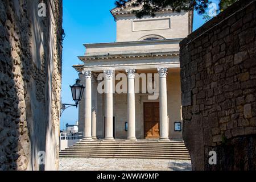
{"type": "Polygon", "coordinates": [[[84,139],[182,139],[179,43],[192,31],[192,12],[138,19],[133,3],[111,10],[116,42],[84,44],[84,64],[73,65],[85,85],[84,139]]]}

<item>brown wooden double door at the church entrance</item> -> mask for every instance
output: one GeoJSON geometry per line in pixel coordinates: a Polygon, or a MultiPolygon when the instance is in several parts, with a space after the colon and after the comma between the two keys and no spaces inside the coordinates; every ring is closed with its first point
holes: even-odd
{"type": "Polygon", "coordinates": [[[159,121],[159,102],[144,102],[144,138],[160,137],[159,121]]]}

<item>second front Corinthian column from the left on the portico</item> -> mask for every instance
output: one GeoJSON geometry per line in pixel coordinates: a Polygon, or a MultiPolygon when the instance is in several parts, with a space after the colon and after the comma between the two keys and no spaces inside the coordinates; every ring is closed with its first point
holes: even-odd
{"type": "Polygon", "coordinates": [[[113,70],[105,73],[105,139],[113,140],[113,70]]]}

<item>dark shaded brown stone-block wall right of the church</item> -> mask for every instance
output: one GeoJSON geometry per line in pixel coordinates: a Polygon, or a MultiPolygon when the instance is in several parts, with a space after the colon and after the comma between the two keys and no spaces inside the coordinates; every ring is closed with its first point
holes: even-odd
{"type": "Polygon", "coordinates": [[[256,169],[255,6],[238,1],[180,43],[183,137],[194,170],[256,169]],[[217,165],[208,163],[212,150],[217,165]]]}

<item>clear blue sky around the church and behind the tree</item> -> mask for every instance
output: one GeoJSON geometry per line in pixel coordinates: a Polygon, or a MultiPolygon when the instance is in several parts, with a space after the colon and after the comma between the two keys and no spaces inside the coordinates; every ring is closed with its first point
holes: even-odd
{"type": "MultiPolygon", "coordinates": [[[[218,0],[212,2],[218,3],[218,0]]],[[[115,21],[110,14],[114,0],[63,0],[63,28],[66,37],[63,42],[62,103],[73,104],[69,85],[73,85],[78,73],[72,68],[82,64],[77,56],[85,53],[84,43],[115,42],[115,21]]],[[[195,13],[193,29],[205,23],[202,16],[195,13]]],[[[74,124],[78,119],[78,109],[69,107],[61,115],[60,128],[66,123],[74,124]]]]}

